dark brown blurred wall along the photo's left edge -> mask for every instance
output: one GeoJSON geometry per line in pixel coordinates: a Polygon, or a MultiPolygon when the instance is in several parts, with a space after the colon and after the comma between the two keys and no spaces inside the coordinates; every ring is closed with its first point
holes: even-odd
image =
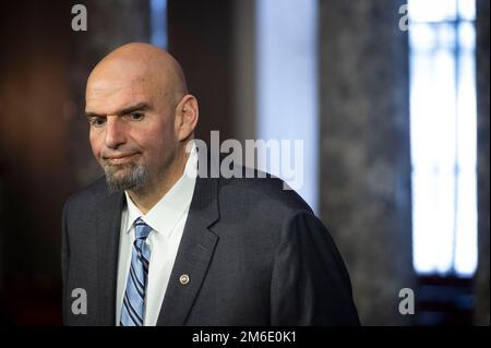
{"type": "Polygon", "coordinates": [[[56,2],[0,4],[2,313],[58,322],[59,212],[76,185],[67,147],[70,11],[56,2]]]}

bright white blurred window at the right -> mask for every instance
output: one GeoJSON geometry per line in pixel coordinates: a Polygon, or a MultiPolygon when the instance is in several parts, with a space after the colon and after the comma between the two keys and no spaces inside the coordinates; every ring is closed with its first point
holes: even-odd
{"type": "Polygon", "coordinates": [[[477,267],[475,1],[409,0],[414,264],[477,267]]]}

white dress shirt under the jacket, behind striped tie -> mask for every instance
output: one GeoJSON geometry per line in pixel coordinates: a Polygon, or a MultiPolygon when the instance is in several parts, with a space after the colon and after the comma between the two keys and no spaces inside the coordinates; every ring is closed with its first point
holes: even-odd
{"type": "Polygon", "coordinates": [[[131,265],[131,253],[135,238],[133,223],[139,217],[152,228],[146,239],[151,250],[148,283],[144,310],[144,325],[157,323],[160,307],[169,283],[170,273],[181,241],[189,207],[193,197],[197,173],[197,154],[193,144],[181,178],[145,215],[140,212],[128,192],[124,192],[127,206],[121,215],[119,240],[118,286],[116,298],[116,324],[121,319],[121,307],[127,288],[128,273],[131,265]]]}

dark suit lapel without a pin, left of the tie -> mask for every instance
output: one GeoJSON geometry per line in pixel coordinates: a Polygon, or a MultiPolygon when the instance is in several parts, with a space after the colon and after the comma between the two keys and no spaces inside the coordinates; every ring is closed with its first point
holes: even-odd
{"type": "Polygon", "coordinates": [[[103,202],[97,224],[98,325],[115,325],[119,235],[124,194],[116,192],[103,202]]]}

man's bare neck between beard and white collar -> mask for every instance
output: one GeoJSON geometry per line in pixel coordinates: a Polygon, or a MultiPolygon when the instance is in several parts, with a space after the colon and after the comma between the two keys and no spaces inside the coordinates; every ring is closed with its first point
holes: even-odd
{"type": "Polygon", "coordinates": [[[157,202],[160,201],[167,192],[169,192],[179,178],[182,177],[189,154],[184,152],[184,154],[179,156],[179,158],[180,159],[177,164],[169,168],[166,175],[158,178],[160,179],[158,182],[151,182],[139,190],[128,191],[131,200],[143,214],[148,213],[155,204],[157,204],[157,202]]]}

